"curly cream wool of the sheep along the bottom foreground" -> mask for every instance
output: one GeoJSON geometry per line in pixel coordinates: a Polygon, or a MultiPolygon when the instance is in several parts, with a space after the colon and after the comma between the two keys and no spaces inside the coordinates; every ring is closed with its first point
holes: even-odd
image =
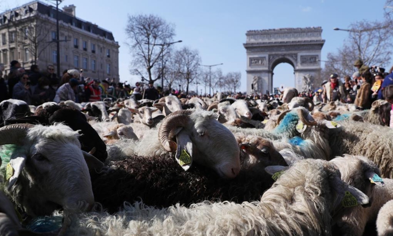
{"type": "Polygon", "coordinates": [[[342,199],[330,185],[338,175],[327,161],[303,160],[287,170],[260,202],[203,202],[163,209],[125,204],[115,215],[80,214],[69,235],[327,236],[331,235],[330,213],[335,212],[335,220],[341,210],[342,199]]]}

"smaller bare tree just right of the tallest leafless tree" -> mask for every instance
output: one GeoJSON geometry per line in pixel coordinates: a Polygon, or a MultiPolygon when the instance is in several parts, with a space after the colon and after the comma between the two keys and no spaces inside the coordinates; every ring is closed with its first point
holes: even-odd
{"type": "Polygon", "coordinates": [[[175,63],[178,64],[178,74],[186,83],[186,94],[190,84],[197,78],[199,63],[201,59],[197,50],[191,50],[188,47],[175,52],[175,63]]]}

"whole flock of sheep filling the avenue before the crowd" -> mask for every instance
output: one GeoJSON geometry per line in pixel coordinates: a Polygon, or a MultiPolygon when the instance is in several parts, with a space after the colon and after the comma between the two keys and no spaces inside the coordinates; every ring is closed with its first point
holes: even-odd
{"type": "Polygon", "coordinates": [[[393,235],[391,106],[0,103],[0,235],[393,235]]]}

